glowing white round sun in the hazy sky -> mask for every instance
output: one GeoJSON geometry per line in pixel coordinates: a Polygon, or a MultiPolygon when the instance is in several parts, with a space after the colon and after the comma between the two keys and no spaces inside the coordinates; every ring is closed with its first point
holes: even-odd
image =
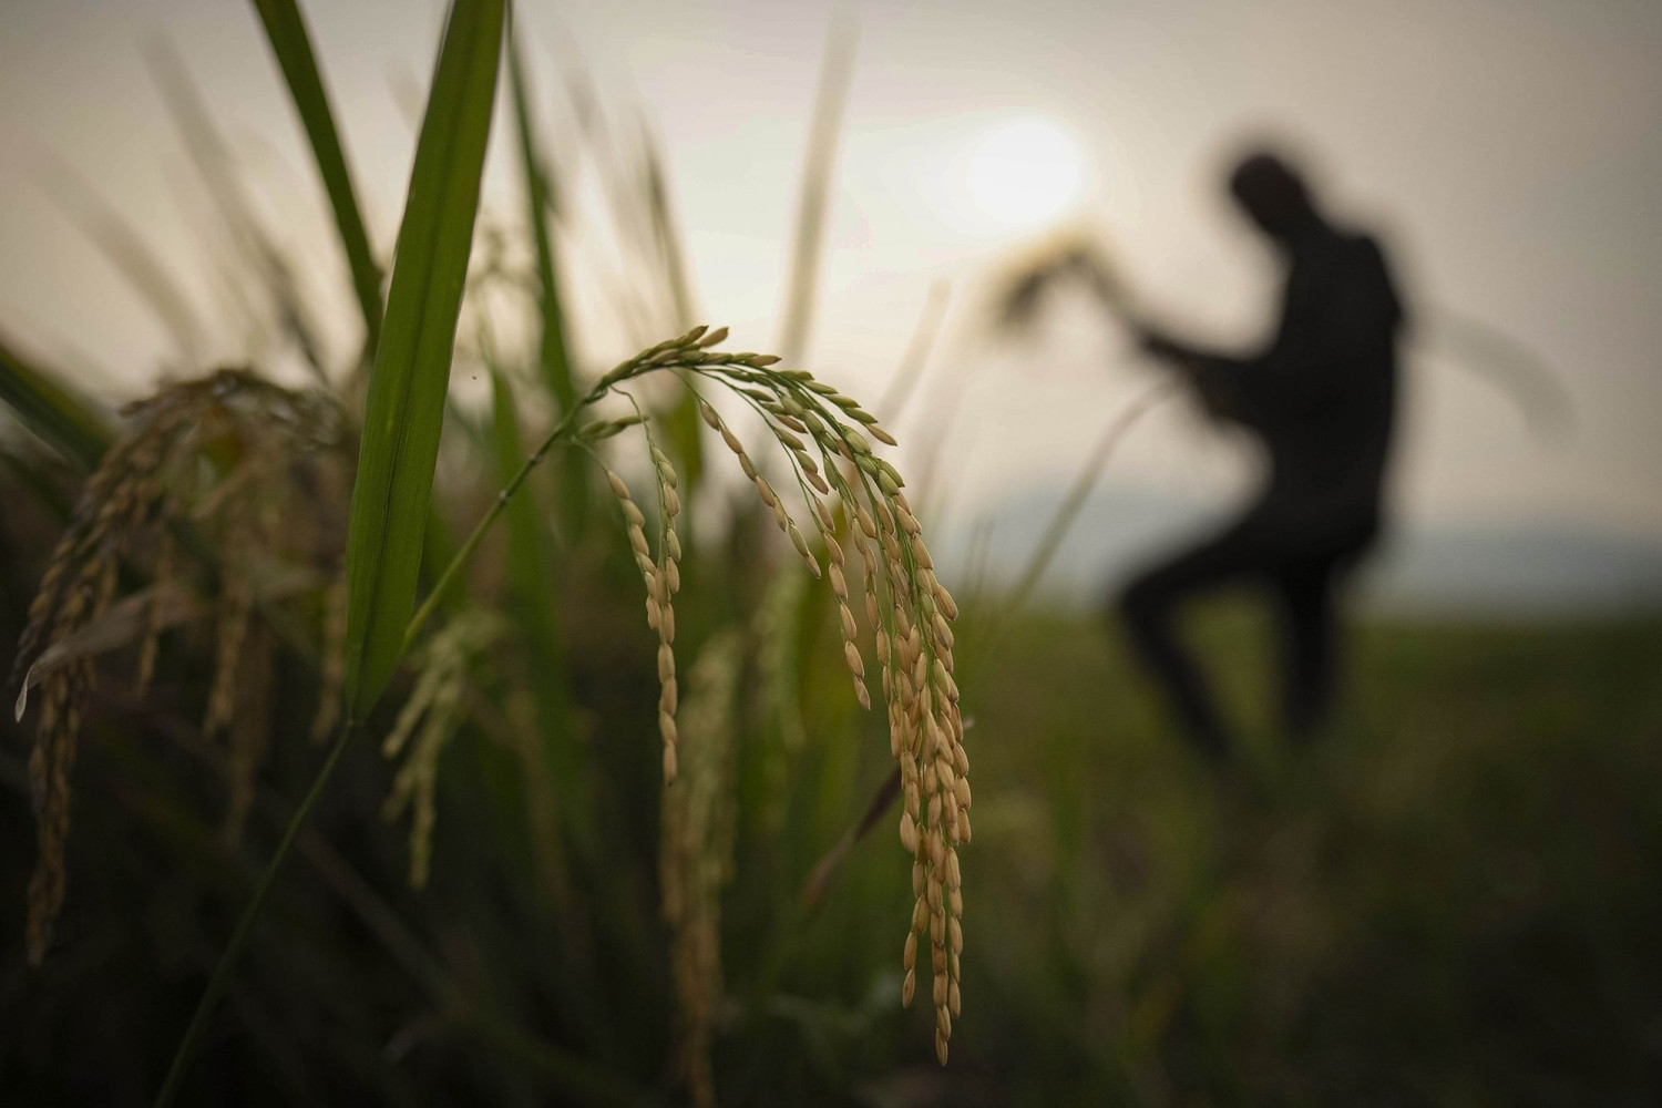
{"type": "Polygon", "coordinates": [[[1034,228],[1079,196],[1085,158],[1054,120],[1029,116],[986,131],[969,158],[969,193],[992,219],[1034,228]]]}

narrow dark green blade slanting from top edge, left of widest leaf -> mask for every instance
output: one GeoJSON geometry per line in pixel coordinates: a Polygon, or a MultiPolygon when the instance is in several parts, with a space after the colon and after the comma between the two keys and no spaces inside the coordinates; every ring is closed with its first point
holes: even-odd
{"type": "Polygon", "coordinates": [[[278,65],[283,68],[283,80],[288,81],[294,110],[299,113],[306,138],[311,141],[324,191],[329,193],[334,224],[341,231],[341,248],[346,251],[346,262],[352,271],[352,289],[357,292],[357,306],[364,314],[364,355],[367,359],[374,355],[381,336],[381,271],[369,249],[369,234],[364,231],[357,193],[352,189],[352,171],[346,164],[346,151],[341,146],[341,133],[334,126],[334,113],[329,110],[329,93],[322,85],[322,73],[317,70],[317,56],[311,47],[311,35],[306,32],[306,18],[296,0],[254,0],[254,8],[266,25],[271,53],[278,56],[278,65]]]}

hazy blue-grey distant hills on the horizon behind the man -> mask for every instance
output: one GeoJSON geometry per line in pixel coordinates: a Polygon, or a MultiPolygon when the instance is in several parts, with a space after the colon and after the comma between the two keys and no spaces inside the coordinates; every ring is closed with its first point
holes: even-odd
{"type": "MultiPolygon", "coordinates": [[[[1059,487],[1035,488],[931,542],[959,575],[981,561],[991,585],[1010,585],[1064,495],[1059,487]],[[972,556],[977,542],[984,548],[972,556]]],[[[1218,502],[1107,485],[1074,523],[1039,593],[1052,601],[1092,603],[1138,565],[1217,527],[1230,510],[1218,502]]],[[[1516,616],[1659,611],[1662,540],[1557,522],[1404,523],[1368,566],[1365,591],[1369,606],[1388,611],[1516,616]]]]}

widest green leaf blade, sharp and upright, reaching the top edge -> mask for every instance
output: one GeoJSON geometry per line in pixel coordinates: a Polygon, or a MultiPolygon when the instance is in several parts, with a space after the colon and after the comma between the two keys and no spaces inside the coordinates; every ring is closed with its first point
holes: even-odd
{"type": "Polygon", "coordinates": [[[502,0],[457,0],[416,145],[346,543],[346,703],[381,696],[416,601],[502,55],[502,0]]]}

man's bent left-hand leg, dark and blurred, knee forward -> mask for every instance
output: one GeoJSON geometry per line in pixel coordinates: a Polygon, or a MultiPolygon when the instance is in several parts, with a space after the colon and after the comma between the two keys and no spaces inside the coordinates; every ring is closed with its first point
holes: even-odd
{"type": "Polygon", "coordinates": [[[1213,761],[1228,756],[1228,738],[1205,676],[1177,640],[1177,610],[1195,593],[1251,568],[1255,556],[1250,543],[1238,528],[1232,528],[1142,573],[1125,588],[1117,605],[1138,659],[1165,691],[1185,736],[1213,761]]]}

